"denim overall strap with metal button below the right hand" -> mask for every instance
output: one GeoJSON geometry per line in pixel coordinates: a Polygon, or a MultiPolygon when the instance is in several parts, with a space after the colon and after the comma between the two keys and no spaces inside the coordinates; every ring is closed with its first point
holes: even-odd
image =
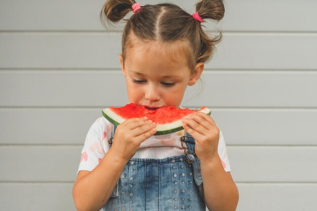
{"type": "Polygon", "coordinates": [[[201,172],[201,161],[198,159],[195,153],[195,140],[187,132],[185,133],[185,142],[187,144],[189,153],[194,155],[194,161],[191,163],[193,167],[194,179],[198,186],[202,185],[203,178],[201,172]]]}

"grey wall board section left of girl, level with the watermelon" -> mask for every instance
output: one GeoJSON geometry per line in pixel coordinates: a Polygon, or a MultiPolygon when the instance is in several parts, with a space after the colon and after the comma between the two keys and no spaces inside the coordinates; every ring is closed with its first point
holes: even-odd
{"type": "Polygon", "coordinates": [[[0,108],[0,144],[83,144],[99,116],[101,108],[0,108]]]}

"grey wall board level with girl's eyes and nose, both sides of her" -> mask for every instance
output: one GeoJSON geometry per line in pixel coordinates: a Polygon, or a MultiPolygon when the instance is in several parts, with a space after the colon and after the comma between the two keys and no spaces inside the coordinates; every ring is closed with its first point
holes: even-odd
{"type": "MultiPolygon", "coordinates": [[[[201,78],[203,85],[187,89],[183,106],[317,107],[317,71],[205,71],[201,78]]],[[[0,106],[7,107],[104,107],[128,102],[119,70],[4,70],[0,99],[0,106]]]]}

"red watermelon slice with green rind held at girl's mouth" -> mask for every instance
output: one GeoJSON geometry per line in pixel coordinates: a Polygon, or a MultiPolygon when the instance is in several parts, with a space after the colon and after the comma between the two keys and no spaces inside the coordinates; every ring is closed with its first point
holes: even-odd
{"type": "Polygon", "coordinates": [[[112,124],[119,125],[128,118],[144,117],[156,122],[156,135],[164,135],[183,130],[182,118],[196,112],[203,112],[210,115],[211,111],[206,107],[199,110],[188,108],[175,108],[173,106],[163,106],[157,109],[148,108],[133,103],[124,107],[109,107],[102,110],[103,116],[112,124]]]}

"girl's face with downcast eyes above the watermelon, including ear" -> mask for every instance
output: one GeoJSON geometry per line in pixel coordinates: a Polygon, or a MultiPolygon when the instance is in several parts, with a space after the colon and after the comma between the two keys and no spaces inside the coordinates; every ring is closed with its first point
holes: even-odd
{"type": "Polygon", "coordinates": [[[204,63],[198,63],[191,73],[185,53],[162,54],[156,43],[129,48],[120,60],[130,103],[150,108],[179,107],[187,85],[194,85],[204,69],[204,63]]]}

